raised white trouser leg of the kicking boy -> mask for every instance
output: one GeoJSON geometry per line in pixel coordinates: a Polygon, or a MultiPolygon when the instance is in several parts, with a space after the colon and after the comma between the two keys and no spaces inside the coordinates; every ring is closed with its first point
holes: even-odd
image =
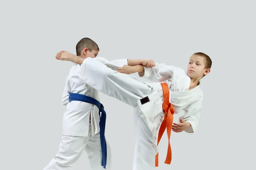
{"type": "Polygon", "coordinates": [[[113,71],[95,59],[84,59],[81,70],[86,84],[133,107],[138,106],[137,100],[155,91],[140,79],[113,71]]]}

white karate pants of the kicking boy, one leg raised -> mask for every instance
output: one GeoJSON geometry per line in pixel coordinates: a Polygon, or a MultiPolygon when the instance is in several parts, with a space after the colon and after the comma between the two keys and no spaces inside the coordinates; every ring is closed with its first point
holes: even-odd
{"type": "MultiPolygon", "coordinates": [[[[87,60],[87,59],[85,59],[87,60]]],[[[147,83],[132,77],[113,71],[103,63],[91,59],[83,63],[81,78],[84,82],[96,90],[114,97],[134,107],[134,121],[137,131],[137,141],[134,148],[133,170],[154,170],[155,155],[157,154],[157,136],[152,134],[144,119],[140,116],[139,99],[153,94],[157,89],[147,83]]],[[[124,113],[126,114],[126,113],[124,113]]],[[[159,113],[157,121],[162,122],[164,113],[159,113]]],[[[156,127],[160,127],[160,124],[156,127]]],[[[121,168],[121,167],[120,167],[121,168]]]]}

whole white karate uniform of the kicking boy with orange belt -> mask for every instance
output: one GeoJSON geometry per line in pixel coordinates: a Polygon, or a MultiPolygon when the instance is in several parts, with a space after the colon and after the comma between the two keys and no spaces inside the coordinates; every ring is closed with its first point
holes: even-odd
{"type": "Polygon", "coordinates": [[[184,110],[181,116],[189,122],[186,132],[195,132],[201,114],[203,94],[200,85],[189,90],[190,78],[186,72],[178,67],[158,64],[153,68],[146,68],[144,78],[152,83],[127,74],[113,71],[113,64],[100,57],[84,59],[81,65],[81,79],[96,90],[119,99],[134,107],[134,118],[137,128],[137,142],[134,150],[134,170],[155,169],[155,155],[157,154],[156,132],[163,121],[163,89],[161,82],[166,82],[170,90],[170,103],[175,113],[184,110]],[[141,105],[140,99],[148,96],[149,102],[141,105]]]}

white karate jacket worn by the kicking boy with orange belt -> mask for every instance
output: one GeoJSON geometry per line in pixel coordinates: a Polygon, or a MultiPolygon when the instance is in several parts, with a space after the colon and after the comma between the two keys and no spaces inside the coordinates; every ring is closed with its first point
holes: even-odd
{"type": "Polygon", "coordinates": [[[138,101],[138,105],[143,112],[143,115],[141,116],[143,116],[145,121],[148,122],[148,126],[152,133],[156,133],[155,127],[158,127],[157,124],[161,123],[157,122],[159,119],[156,119],[157,116],[161,116],[159,113],[163,109],[163,92],[160,84],[161,82],[166,82],[169,86],[169,100],[175,108],[175,113],[179,113],[183,110],[184,115],[180,116],[180,118],[191,124],[186,132],[195,132],[198,126],[203,102],[203,92],[201,91],[200,83],[197,87],[189,90],[191,81],[190,77],[182,68],[172,65],[156,63],[155,67],[144,67],[144,69],[145,74],[143,78],[151,80],[153,83],[148,84],[157,90],[154,94],[148,96],[153,100],[145,103],[144,105],[141,105],[140,101],[138,101]]]}

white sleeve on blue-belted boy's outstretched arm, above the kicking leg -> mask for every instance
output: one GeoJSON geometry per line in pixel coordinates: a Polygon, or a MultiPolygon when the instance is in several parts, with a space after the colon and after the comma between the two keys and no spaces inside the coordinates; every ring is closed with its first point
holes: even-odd
{"type": "Polygon", "coordinates": [[[118,68],[122,67],[123,65],[128,65],[127,59],[115,59],[108,61],[107,59],[103,57],[96,57],[93,58],[96,59],[97,61],[105,64],[107,67],[111,68],[114,71],[117,71],[118,68]]]}

